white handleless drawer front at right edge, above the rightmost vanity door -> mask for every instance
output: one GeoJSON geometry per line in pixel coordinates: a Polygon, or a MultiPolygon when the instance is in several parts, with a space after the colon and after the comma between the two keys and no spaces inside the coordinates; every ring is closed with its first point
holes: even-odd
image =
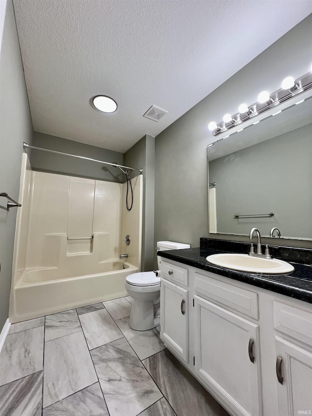
{"type": "Polygon", "coordinates": [[[312,311],[304,311],[282,302],[273,301],[274,328],[312,345],[312,311]]]}

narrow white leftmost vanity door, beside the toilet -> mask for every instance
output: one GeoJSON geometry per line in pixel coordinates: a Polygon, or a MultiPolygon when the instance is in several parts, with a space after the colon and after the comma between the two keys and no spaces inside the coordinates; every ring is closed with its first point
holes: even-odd
{"type": "Polygon", "coordinates": [[[160,286],[160,337],[188,362],[188,291],[166,279],[160,286]]]}

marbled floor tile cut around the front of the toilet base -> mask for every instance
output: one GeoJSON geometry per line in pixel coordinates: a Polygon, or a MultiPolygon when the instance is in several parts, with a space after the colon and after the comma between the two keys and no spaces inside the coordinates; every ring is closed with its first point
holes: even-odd
{"type": "Polygon", "coordinates": [[[159,332],[156,328],[148,331],[135,331],[129,326],[129,317],[118,319],[116,323],[140,360],[159,353],[166,348],[159,338],[159,332]]]}

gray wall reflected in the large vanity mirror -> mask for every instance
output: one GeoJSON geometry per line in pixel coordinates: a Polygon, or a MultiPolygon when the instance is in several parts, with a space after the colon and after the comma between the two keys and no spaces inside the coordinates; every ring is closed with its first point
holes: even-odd
{"type": "Polygon", "coordinates": [[[312,238],[311,139],[309,124],[210,161],[218,232],[248,234],[257,227],[269,236],[278,227],[285,237],[312,238]],[[274,216],[234,218],[269,212],[274,216]]]}

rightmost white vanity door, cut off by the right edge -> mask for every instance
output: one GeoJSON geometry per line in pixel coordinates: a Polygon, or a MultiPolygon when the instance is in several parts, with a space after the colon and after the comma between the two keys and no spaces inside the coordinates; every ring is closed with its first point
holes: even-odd
{"type": "Polygon", "coordinates": [[[281,337],[275,347],[278,416],[312,415],[312,353],[281,337]]]}

